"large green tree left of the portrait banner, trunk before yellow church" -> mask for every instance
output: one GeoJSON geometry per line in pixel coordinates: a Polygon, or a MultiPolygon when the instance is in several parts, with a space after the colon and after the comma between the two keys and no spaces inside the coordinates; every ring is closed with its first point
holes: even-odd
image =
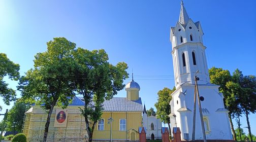
{"type": "Polygon", "coordinates": [[[76,44],[65,38],[53,38],[47,51],[37,53],[34,68],[20,79],[19,90],[24,99],[36,99],[48,113],[43,141],[46,141],[53,107],[66,108],[74,97],[73,67],[76,44]]]}

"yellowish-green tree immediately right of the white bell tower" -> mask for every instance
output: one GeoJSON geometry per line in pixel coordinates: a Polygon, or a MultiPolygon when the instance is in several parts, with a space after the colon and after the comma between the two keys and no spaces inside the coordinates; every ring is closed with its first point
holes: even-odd
{"type": "MultiPolygon", "coordinates": [[[[230,94],[231,86],[235,84],[232,82],[232,76],[230,75],[229,70],[223,70],[222,68],[212,67],[209,69],[210,82],[216,85],[219,85],[219,92],[224,96],[225,107],[230,111],[229,120],[231,124],[231,130],[233,133],[233,139],[236,140],[236,132],[232,122],[232,116],[234,114],[234,108],[237,107],[236,96],[233,92],[233,95],[230,94]],[[228,85],[227,85],[228,84],[228,85]],[[230,86],[230,88],[228,88],[230,86]]],[[[236,84],[237,85],[237,84],[236,84]]]]}

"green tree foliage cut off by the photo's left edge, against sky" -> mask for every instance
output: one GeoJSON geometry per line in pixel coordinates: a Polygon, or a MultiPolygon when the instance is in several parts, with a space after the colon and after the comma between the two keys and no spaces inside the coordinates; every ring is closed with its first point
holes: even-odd
{"type": "Polygon", "coordinates": [[[19,79],[19,64],[10,61],[6,54],[0,53],[0,96],[3,97],[5,104],[9,105],[10,101],[16,99],[16,93],[4,81],[5,76],[17,81],[19,79]]]}

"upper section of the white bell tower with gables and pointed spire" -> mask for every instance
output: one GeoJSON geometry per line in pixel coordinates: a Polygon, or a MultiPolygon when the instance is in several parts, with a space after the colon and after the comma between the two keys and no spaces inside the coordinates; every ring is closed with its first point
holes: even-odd
{"type": "Polygon", "coordinates": [[[193,22],[181,1],[179,21],[171,27],[173,66],[175,86],[183,83],[194,84],[197,70],[200,81],[198,84],[210,82],[205,56],[206,47],[203,45],[203,30],[200,22],[193,22]]]}

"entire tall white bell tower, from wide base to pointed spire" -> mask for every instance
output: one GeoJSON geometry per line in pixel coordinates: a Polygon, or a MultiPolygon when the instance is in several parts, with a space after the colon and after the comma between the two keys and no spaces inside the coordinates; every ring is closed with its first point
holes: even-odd
{"type": "MultiPolygon", "coordinates": [[[[207,139],[232,139],[228,110],[223,104],[223,95],[218,85],[209,83],[209,73],[203,45],[203,30],[200,22],[194,23],[181,3],[180,19],[171,27],[172,56],[176,90],[172,93],[171,129],[180,127],[181,139],[191,140],[193,133],[193,108],[195,75],[200,78],[199,93],[207,139]],[[194,53],[193,53],[194,52],[194,53]],[[194,55],[193,55],[194,54],[194,55]],[[176,117],[174,117],[176,116],[176,117]]],[[[196,139],[203,139],[198,102],[196,108],[196,139]]]]}

